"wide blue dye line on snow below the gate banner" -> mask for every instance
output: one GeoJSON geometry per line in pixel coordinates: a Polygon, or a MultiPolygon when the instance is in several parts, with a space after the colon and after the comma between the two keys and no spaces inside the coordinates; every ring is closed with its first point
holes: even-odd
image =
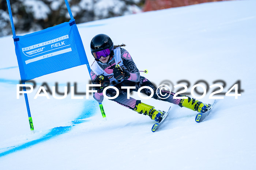
{"type": "MultiPolygon", "coordinates": [[[[71,123],[72,123],[71,126],[65,126],[65,127],[61,126],[61,127],[53,128],[53,129],[50,130],[50,132],[48,134],[42,136],[39,139],[32,140],[32,141],[24,143],[22,145],[18,145],[17,147],[13,146],[10,150],[0,153],[0,157],[3,157],[5,155],[11,154],[13,152],[31,147],[35,144],[44,142],[46,140],[52,139],[52,138],[54,138],[54,137],[56,137],[60,134],[64,134],[64,133],[69,132],[72,129],[72,127],[74,127],[76,124],[80,124],[80,123],[84,123],[84,122],[88,121],[88,120],[80,120],[80,119],[86,119],[86,118],[91,117],[95,114],[95,112],[97,111],[97,109],[96,109],[97,104],[95,104],[95,103],[96,103],[96,101],[94,101],[94,100],[86,102],[84,104],[84,108],[83,108],[82,113],[78,116],[78,118],[76,120],[71,121],[71,123]],[[92,106],[94,106],[94,107],[92,107],[92,106]]],[[[8,148],[10,148],[10,147],[8,147],[8,148]]]]}

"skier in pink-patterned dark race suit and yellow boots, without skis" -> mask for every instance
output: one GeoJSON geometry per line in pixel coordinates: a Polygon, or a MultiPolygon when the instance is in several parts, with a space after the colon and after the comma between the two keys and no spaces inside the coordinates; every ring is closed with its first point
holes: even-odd
{"type": "MultiPolygon", "coordinates": [[[[125,46],[125,45],[121,45],[125,46]]],[[[175,93],[160,90],[149,81],[147,78],[140,76],[139,70],[133,62],[131,55],[121,46],[114,46],[112,40],[108,35],[98,34],[91,40],[91,54],[96,62],[93,62],[91,66],[91,78],[93,84],[101,84],[100,87],[94,87],[97,93],[93,94],[95,100],[99,103],[103,100],[103,89],[107,86],[115,86],[119,90],[119,95],[115,99],[111,99],[118,104],[123,105],[129,109],[132,109],[140,114],[148,115],[155,121],[161,121],[163,114],[162,111],[155,109],[153,106],[142,103],[140,100],[134,98],[127,99],[127,89],[121,89],[121,86],[135,86],[136,89],[132,91],[138,91],[142,86],[149,86],[154,90],[153,98],[168,101],[169,103],[177,104],[180,107],[186,107],[204,113],[211,105],[202,103],[194,98],[188,97],[188,99],[173,99],[175,93]],[[165,97],[170,94],[166,99],[161,99],[158,96],[165,97]]],[[[150,89],[143,89],[141,92],[150,96],[150,89]]],[[[116,90],[107,89],[106,96],[113,97],[116,95],[116,90]]],[[[177,95],[181,96],[181,95],[177,95]]]]}

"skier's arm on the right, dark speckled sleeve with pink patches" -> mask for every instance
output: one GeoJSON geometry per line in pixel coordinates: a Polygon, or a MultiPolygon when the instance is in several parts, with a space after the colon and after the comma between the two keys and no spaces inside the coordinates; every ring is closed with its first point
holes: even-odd
{"type": "Polygon", "coordinates": [[[135,63],[133,62],[131,55],[125,49],[120,48],[120,50],[121,50],[121,58],[123,60],[124,66],[131,75],[127,80],[138,82],[140,77],[140,72],[137,66],[135,65],[135,63]]]}

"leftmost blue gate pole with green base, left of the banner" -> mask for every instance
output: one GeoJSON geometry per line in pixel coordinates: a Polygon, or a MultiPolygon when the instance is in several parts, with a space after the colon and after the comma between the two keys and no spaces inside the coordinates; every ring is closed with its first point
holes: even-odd
{"type": "MultiPolygon", "coordinates": [[[[16,38],[15,27],[14,27],[14,23],[13,23],[13,19],[12,19],[12,10],[11,10],[10,0],[6,0],[6,2],[7,2],[8,12],[9,12],[9,16],[10,16],[10,22],[11,22],[11,27],[12,27],[12,35],[13,35],[13,38],[16,38]]],[[[22,84],[25,85],[25,82],[22,82],[22,84]]],[[[26,92],[26,87],[23,87],[23,91],[26,92]]],[[[26,106],[27,106],[27,114],[29,116],[30,130],[32,133],[34,133],[34,125],[33,125],[32,117],[31,117],[31,113],[30,113],[29,100],[27,98],[27,93],[24,93],[24,96],[25,96],[25,101],[26,101],[26,106]]]]}

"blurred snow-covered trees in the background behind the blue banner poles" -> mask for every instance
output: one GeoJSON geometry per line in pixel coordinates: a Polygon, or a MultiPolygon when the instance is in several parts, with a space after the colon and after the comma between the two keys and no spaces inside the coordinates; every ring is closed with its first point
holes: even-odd
{"type": "MultiPolygon", "coordinates": [[[[76,23],[141,11],[141,0],[68,0],[76,23]]],[[[69,21],[64,0],[10,0],[17,34],[69,21]]],[[[12,33],[7,4],[0,0],[0,36],[12,33]]]]}

